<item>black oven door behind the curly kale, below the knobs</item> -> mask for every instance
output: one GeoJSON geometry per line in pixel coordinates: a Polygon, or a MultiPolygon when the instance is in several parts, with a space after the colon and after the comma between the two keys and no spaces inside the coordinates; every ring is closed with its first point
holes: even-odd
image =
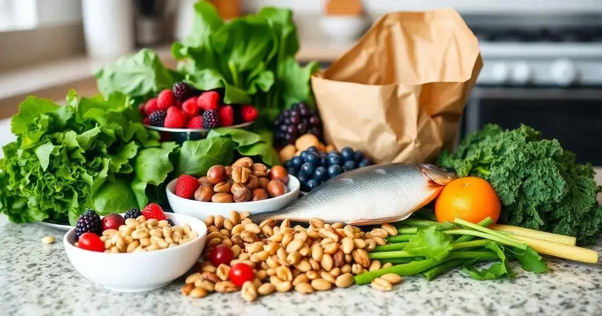
{"type": "Polygon", "coordinates": [[[579,163],[602,166],[602,87],[475,87],[462,124],[462,135],[487,123],[514,129],[520,123],[556,138],[579,163]]]}

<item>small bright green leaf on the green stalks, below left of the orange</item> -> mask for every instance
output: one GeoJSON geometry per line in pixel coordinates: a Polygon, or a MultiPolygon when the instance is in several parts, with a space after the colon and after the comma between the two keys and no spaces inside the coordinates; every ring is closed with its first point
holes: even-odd
{"type": "Polygon", "coordinates": [[[452,237],[436,230],[431,226],[419,231],[403,248],[414,256],[424,256],[429,259],[442,260],[452,250],[452,237]]]}

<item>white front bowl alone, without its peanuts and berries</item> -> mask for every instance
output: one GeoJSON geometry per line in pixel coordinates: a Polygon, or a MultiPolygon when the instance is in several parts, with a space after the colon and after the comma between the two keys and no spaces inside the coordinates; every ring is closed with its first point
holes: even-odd
{"type": "Polygon", "coordinates": [[[193,267],[207,238],[207,227],[202,221],[182,214],[166,213],[166,216],[176,225],[188,223],[193,231],[199,233],[199,237],[167,249],[105,253],[73,246],[75,228],[72,228],[63,237],[67,257],[82,276],[109,290],[143,292],[164,287],[193,267]]]}

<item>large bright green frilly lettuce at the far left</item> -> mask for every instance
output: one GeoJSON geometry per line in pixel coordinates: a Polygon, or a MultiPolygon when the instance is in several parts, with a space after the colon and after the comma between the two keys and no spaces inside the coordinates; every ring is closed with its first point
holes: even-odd
{"type": "Polygon", "coordinates": [[[66,101],[61,107],[30,96],[11,120],[17,141],[2,148],[0,212],[13,222],[73,224],[88,208],[142,207],[144,191],[173,169],[168,157],[177,146],[159,147],[124,94],[78,100],[72,90],[66,101]]]}

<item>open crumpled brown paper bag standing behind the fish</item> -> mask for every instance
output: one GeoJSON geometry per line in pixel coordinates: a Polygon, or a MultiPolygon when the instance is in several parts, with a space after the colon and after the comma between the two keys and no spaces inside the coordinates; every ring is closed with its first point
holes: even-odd
{"type": "Polygon", "coordinates": [[[311,83],[327,143],[375,163],[432,161],[453,146],[483,63],[454,10],[381,17],[311,83]]]}

